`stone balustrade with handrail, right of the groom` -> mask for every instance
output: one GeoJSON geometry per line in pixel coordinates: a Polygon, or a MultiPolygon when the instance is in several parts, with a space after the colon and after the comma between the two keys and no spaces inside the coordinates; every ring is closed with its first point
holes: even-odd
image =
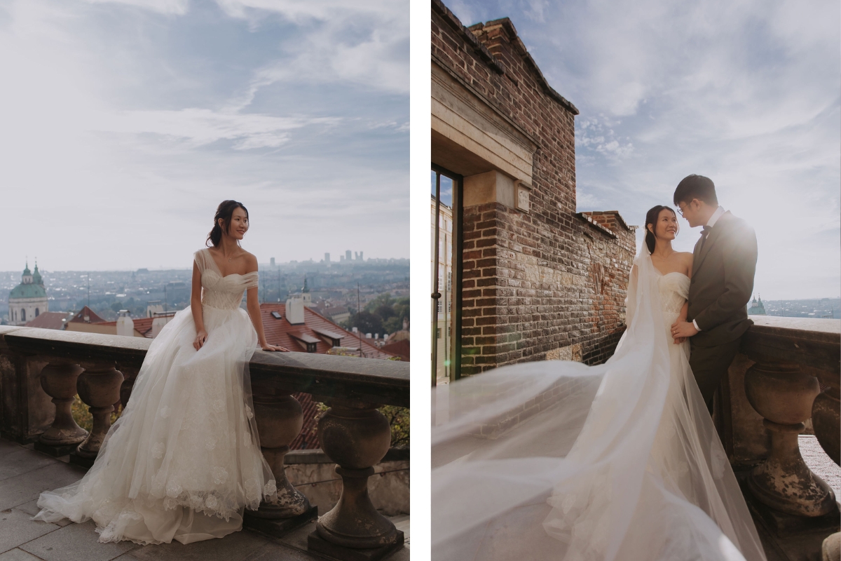
{"type": "Polygon", "coordinates": [[[833,491],[801,458],[798,435],[812,427],[839,462],[841,320],[751,316],[719,394],[722,440],[734,466],[749,469],[750,495],[772,532],[832,522],[833,491]],[[811,521],[811,522],[809,522],[811,521]]]}

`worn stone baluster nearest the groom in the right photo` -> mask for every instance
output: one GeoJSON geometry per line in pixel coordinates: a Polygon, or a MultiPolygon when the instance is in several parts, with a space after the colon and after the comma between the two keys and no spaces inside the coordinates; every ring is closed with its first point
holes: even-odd
{"type": "Polygon", "coordinates": [[[748,489],[771,508],[794,516],[837,511],[833,490],[803,462],[797,436],[820,393],[817,378],[796,363],[756,363],[745,375],[748,401],[770,431],[769,458],[748,476],[748,489]]]}

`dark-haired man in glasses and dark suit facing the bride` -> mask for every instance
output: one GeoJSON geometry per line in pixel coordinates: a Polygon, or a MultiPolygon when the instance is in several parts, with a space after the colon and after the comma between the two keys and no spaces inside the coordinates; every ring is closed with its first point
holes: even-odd
{"type": "Polygon", "coordinates": [[[712,415],[712,396],[754,324],[746,304],[754,291],[756,234],[718,205],[708,177],[684,177],[674,204],[690,227],[704,226],[693,251],[687,321],[675,321],[671,329],[675,338],[691,337],[690,367],[712,415]]]}

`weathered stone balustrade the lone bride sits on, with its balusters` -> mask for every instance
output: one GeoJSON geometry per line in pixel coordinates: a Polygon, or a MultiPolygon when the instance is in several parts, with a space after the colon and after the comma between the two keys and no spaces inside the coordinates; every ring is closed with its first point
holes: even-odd
{"type": "MultiPolygon", "coordinates": [[[[0,433],[92,465],[114,406],[130,400],[150,344],[140,337],[0,326],[0,433]],[[76,394],[93,415],[89,434],[70,415],[76,394]]],[[[389,423],[377,408],[409,406],[408,363],[257,350],[249,371],[278,501],[246,511],[246,527],[279,537],[317,516],[317,507],[286,478],[283,462],[303,422],[292,394],[305,392],[330,405],[319,423],[319,442],[342,480],[341,497],[319,517],[309,549],[338,559],[374,559],[401,548],[403,532],[374,509],[368,478],[389,450],[389,423]]]]}

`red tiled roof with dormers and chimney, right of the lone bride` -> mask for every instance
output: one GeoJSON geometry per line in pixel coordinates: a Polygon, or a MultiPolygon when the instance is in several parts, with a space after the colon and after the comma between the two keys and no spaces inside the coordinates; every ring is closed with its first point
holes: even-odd
{"type": "MultiPolygon", "coordinates": [[[[263,329],[266,331],[266,341],[272,345],[280,345],[290,351],[305,352],[304,347],[298,341],[302,339],[306,341],[311,337],[318,341],[315,343],[315,352],[326,354],[333,347],[333,344],[332,341],[329,341],[329,337],[321,336],[320,333],[327,331],[341,336],[341,347],[359,348],[359,336],[357,334],[339,327],[310,308],[304,308],[304,323],[299,325],[292,325],[286,320],[286,304],[270,302],[260,304],[260,315],[263,320],[263,329]],[[272,312],[278,312],[281,319],[275,318],[272,312]]],[[[383,352],[370,341],[370,339],[362,337],[362,355],[364,357],[390,358],[396,356],[391,352],[383,352]]]]}

